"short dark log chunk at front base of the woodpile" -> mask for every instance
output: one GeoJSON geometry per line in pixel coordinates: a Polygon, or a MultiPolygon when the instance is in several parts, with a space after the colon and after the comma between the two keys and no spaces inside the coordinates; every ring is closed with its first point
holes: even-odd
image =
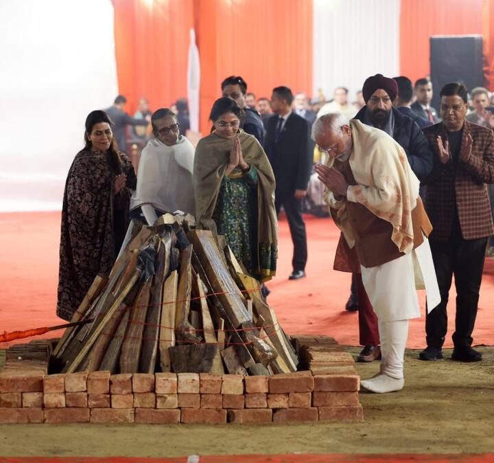
{"type": "Polygon", "coordinates": [[[187,344],[168,349],[175,373],[209,373],[217,352],[216,344],[187,344]]]}

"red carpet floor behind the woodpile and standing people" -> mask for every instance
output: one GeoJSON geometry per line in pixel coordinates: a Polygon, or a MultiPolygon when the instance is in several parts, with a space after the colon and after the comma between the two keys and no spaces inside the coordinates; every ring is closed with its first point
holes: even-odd
{"type": "MultiPolygon", "coordinates": [[[[0,332],[25,330],[60,323],[55,315],[58,280],[60,213],[0,214],[0,332]]],[[[289,334],[318,333],[336,337],[343,345],[358,345],[357,313],[344,303],[349,295],[350,275],[333,271],[339,232],[328,219],[307,217],[309,262],[307,278],[287,280],[292,261],[292,242],[286,221],[280,222],[279,268],[268,283],[268,302],[275,308],[289,334]]],[[[473,338],[475,344],[493,345],[494,266],[489,259],[480,291],[480,304],[473,338]]],[[[425,307],[421,291],[420,300],[425,307]]],[[[450,300],[454,304],[454,295],[450,300]]],[[[449,307],[445,347],[451,347],[454,305],[449,307]]],[[[56,337],[60,332],[48,333],[56,337]]],[[[424,319],[412,320],[408,348],[423,348],[424,319]]]]}

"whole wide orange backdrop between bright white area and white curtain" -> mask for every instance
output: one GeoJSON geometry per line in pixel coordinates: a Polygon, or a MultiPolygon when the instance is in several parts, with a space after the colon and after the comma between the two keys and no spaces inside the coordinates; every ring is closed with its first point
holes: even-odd
{"type": "Polygon", "coordinates": [[[236,74],[248,91],[270,96],[287,85],[311,93],[310,0],[114,0],[119,92],[149,98],[152,109],[187,96],[189,29],[195,27],[201,62],[200,126],[222,80],[236,74]]]}

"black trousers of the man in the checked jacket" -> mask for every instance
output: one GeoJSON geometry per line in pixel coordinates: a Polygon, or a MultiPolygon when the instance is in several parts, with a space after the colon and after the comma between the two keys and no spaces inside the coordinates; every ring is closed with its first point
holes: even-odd
{"type": "Polygon", "coordinates": [[[446,306],[453,275],[456,286],[453,343],[456,348],[471,346],[486,245],[487,238],[464,240],[459,231],[448,241],[430,240],[441,302],[425,319],[427,346],[443,346],[447,332],[446,306]]]}

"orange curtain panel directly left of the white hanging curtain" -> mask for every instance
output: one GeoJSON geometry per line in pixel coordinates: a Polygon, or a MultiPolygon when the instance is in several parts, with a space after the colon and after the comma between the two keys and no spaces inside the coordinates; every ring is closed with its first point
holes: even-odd
{"type": "Polygon", "coordinates": [[[269,98],[279,85],[311,94],[312,1],[198,0],[196,8],[203,133],[220,84],[232,74],[257,98],[269,98]]]}

